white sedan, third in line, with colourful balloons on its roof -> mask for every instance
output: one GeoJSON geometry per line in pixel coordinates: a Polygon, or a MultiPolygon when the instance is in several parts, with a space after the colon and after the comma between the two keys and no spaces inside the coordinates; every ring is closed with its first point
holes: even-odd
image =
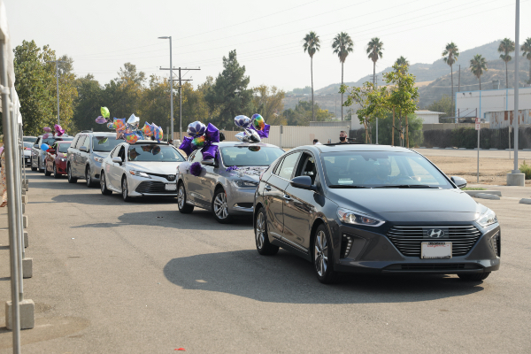
{"type": "Polygon", "coordinates": [[[126,202],[135,196],[175,197],[175,171],[185,160],[167,142],[119,143],[102,162],[102,194],[121,193],[126,202]]]}

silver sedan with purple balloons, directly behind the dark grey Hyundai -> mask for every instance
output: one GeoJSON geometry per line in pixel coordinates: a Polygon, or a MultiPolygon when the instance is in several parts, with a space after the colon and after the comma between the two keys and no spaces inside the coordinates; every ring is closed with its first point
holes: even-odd
{"type": "Polygon", "coordinates": [[[203,160],[201,150],[196,150],[186,163],[179,165],[179,211],[193,212],[197,206],[212,211],[220,223],[230,222],[235,215],[252,216],[260,175],[284,150],[255,142],[218,142],[216,145],[219,146],[216,158],[203,160]]]}

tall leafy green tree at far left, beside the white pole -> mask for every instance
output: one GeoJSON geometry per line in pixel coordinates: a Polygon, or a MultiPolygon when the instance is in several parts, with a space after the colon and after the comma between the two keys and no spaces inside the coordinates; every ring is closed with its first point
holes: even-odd
{"type": "Polygon", "coordinates": [[[48,45],[39,48],[35,41],[23,41],[14,50],[14,70],[19,95],[20,113],[24,117],[24,133],[41,135],[42,127],[57,122],[54,117],[55,89],[50,92],[50,82],[55,82],[46,61],[55,57],[48,45]]]}

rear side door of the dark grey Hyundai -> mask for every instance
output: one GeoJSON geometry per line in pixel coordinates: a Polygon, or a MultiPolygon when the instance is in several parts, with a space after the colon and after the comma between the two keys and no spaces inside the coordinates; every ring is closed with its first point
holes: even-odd
{"type": "Polygon", "coordinates": [[[299,151],[293,152],[274,167],[273,173],[266,181],[264,200],[266,204],[267,230],[275,238],[281,238],[284,229],[284,192],[300,157],[299,151]]]}

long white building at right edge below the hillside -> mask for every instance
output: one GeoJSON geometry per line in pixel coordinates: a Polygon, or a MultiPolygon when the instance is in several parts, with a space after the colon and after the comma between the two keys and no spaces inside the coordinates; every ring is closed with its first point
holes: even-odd
{"type": "MultiPolygon", "coordinates": [[[[456,92],[456,117],[485,119],[487,112],[514,110],[514,89],[456,92]]],[[[519,88],[519,110],[531,109],[531,88],[519,88]]]]}

